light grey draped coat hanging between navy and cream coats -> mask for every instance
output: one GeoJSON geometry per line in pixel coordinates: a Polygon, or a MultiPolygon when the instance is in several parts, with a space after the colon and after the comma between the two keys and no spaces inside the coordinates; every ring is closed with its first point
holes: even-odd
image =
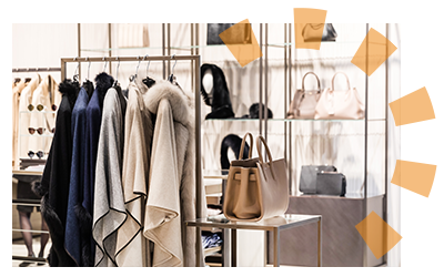
{"type": "Polygon", "coordinates": [[[114,267],[117,230],[127,219],[122,189],[124,113],[127,100],[115,88],[103,101],[94,185],[92,236],[97,243],[97,267],[114,267]]]}

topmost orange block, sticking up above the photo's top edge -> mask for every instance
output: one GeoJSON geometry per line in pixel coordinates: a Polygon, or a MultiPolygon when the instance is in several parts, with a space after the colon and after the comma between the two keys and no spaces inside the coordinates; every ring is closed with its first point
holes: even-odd
{"type": "Polygon", "coordinates": [[[326,14],[327,11],[323,9],[293,8],[294,45],[296,49],[321,49],[326,14]]]}

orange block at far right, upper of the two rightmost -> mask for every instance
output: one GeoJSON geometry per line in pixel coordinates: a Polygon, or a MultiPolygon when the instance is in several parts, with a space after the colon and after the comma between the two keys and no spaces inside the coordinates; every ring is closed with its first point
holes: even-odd
{"type": "Polygon", "coordinates": [[[389,105],[396,126],[436,120],[432,99],[425,85],[389,105]]]}

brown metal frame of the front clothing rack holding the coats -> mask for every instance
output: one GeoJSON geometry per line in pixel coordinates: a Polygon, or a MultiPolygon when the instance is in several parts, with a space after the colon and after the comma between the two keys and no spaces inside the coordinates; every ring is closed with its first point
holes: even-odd
{"type": "MultiPolygon", "coordinates": [[[[194,65],[194,109],[195,109],[195,212],[196,215],[201,214],[201,193],[202,193],[202,166],[201,166],[201,57],[200,55],[138,55],[138,57],[103,57],[103,58],[62,58],[61,59],[61,79],[67,79],[67,63],[82,63],[82,62],[149,62],[149,61],[191,61],[194,65]]],[[[163,63],[165,66],[165,63],[163,63]]],[[[170,74],[170,68],[168,74],[170,74]]],[[[164,69],[163,69],[163,72],[164,69]]],[[[201,249],[198,242],[201,240],[201,228],[196,227],[195,237],[195,252],[196,266],[203,267],[201,261],[201,249]]]]}

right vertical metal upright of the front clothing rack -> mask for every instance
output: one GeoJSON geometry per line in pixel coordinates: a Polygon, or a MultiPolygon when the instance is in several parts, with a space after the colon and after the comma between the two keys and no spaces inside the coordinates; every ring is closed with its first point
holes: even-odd
{"type": "MultiPolygon", "coordinates": [[[[198,74],[198,71],[201,68],[201,57],[199,55],[198,58],[194,59],[194,69],[195,69],[195,91],[194,91],[194,109],[195,109],[195,201],[196,201],[196,218],[201,217],[202,214],[202,152],[201,152],[201,82],[200,82],[200,74],[198,74]]],[[[196,250],[196,265],[199,267],[202,267],[203,265],[201,264],[202,257],[201,257],[201,228],[196,227],[195,228],[195,250],[196,250]]]]}

